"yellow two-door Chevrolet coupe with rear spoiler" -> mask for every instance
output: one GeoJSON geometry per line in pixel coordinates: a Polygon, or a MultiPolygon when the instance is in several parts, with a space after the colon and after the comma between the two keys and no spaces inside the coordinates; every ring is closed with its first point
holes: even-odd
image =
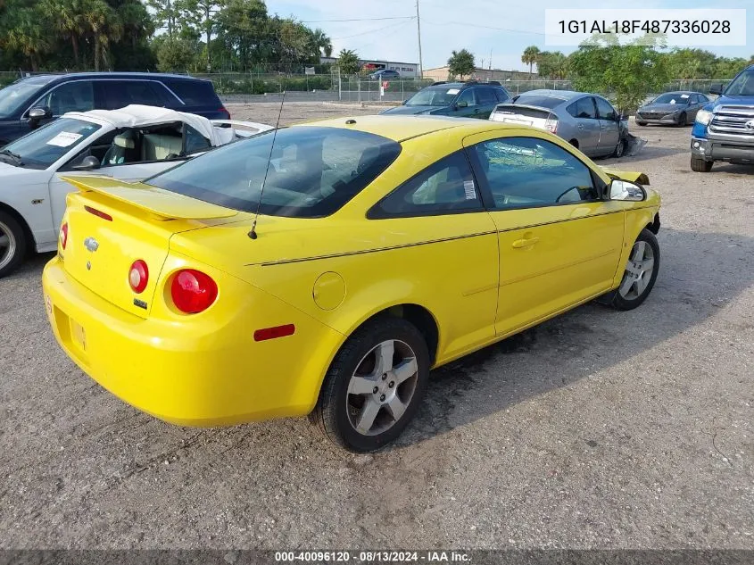
{"type": "Polygon", "coordinates": [[[634,308],[659,269],[644,175],[492,121],[325,120],[143,183],[68,180],[43,277],[54,335],[179,425],[310,414],[374,450],[430,369],[593,298],[634,308]]]}

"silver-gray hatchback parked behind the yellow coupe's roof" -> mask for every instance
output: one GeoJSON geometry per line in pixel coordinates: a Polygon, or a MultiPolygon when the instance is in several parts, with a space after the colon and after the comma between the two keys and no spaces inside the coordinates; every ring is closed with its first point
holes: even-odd
{"type": "Polygon", "coordinates": [[[530,90],[498,104],[490,120],[546,129],[590,157],[620,157],[628,122],[605,98],[568,90],[530,90]]]}

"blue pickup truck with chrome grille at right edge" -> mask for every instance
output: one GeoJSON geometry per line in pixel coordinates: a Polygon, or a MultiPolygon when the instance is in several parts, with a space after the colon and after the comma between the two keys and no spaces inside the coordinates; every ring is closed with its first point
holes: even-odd
{"type": "Polygon", "coordinates": [[[692,129],[692,170],[709,172],[716,161],[754,164],[754,65],[730,84],[713,85],[717,100],[696,115],[692,129]]]}

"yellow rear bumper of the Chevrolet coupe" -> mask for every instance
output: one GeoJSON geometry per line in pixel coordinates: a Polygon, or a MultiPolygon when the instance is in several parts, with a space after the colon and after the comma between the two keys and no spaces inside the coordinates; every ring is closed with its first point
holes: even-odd
{"type": "Polygon", "coordinates": [[[42,280],[47,316],[65,353],[113,395],[178,425],[308,413],[343,339],[237,279],[243,294],[229,290],[237,295],[235,312],[220,323],[211,314],[220,304],[183,323],[139,318],[70,278],[58,258],[47,263],[42,280]],[[294,336],[253,340],[255,328],[280,320],[295,324],[294,336]]]}

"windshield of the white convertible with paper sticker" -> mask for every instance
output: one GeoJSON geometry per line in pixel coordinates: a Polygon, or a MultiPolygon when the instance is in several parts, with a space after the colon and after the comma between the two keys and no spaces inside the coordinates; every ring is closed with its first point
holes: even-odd
{"type": "Polygon", "coordinates": [[[60,118],[5,145],[4,150],[17,154],[26,167],[46,169],[97,129],[100,126],[89,121],[60,118]]]}

